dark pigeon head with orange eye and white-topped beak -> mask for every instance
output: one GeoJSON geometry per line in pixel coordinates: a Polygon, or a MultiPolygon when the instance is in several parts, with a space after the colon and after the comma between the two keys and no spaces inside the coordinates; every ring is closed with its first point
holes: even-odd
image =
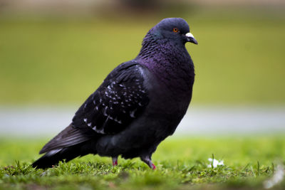
{"type": "Polygon", "coordinates": [[[182,44],[187,42],[198,44],[192,33],[190,33],[188,23],[181,18],[163,19],[150,30],[150,34],[156,40],[162,39],[182,44]]]}

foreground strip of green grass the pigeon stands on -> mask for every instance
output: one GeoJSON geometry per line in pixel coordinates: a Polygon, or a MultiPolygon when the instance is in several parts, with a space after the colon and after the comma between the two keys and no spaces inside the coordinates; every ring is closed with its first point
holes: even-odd
{"type": "MultiPolygon", "coordinates": [[[[152,171],[139,159],[88,155],[51,169],[31,162],[46,140],[0,140],[0,189],[263,189],[263,181],[285,164],[284,136],[170,137],[157,148],[152,171]],[[207,167],[208,158],[224,166],[207,167]]],[[[285,181],[275,186],[284,189],[285,181]]]]}

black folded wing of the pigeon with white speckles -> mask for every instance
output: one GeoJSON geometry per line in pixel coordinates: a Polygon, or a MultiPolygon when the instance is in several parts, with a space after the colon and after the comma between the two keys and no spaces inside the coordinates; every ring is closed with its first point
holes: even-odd
{"type": "Polygon", "coordinates": [[[115,68],[76,112],[73,127],[90,127],[100,134],[124,130],[149,102],[143,85],[144,69],[135,61],[115,68]]]}

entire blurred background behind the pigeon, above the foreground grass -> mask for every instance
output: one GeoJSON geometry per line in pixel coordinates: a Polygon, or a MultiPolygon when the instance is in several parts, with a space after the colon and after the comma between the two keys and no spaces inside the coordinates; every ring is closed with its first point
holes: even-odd
{"type": "Polygon", "coordinates": [[[285,133],[283,0],[0,0],[0,137],[52,137],[147,31],[182,17],[199,42],[175,135],[285,133]]]}

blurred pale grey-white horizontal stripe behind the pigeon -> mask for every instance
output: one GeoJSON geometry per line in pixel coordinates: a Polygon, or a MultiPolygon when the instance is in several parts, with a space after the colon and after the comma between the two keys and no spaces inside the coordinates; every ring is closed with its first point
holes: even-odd
{"type": "MultiPolygon", "coordinates": [[[[52,136],[67,127],[77,107],[0,107],[0,137],[52,136]]],[[[190,107],[181,134],[285,133],[285,107],[190,107]]]]}

